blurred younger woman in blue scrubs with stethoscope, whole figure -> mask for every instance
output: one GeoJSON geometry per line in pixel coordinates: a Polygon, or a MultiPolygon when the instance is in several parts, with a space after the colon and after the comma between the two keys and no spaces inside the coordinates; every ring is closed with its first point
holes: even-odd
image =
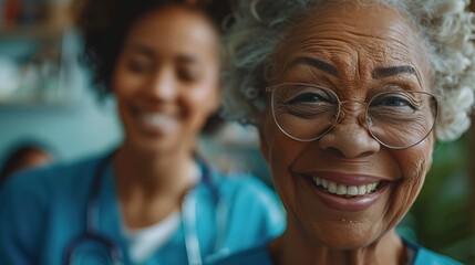
{"type": "Polygon", "coordinates": [[[219,106],[227,2],[75,6],[95,88],[115,97],[123,144],[30,171],[0,191],[1,264],[203,264],[282,231],[276,197],[199,158],[219,106]]]}

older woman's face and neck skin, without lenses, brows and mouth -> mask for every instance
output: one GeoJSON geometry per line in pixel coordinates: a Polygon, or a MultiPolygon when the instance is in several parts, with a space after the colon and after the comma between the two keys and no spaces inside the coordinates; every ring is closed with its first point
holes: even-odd
{"type": "MultiPolygon", "coordinates": [[[[277,77],[269,85],[317,84],[335,92],[341,100],[360,102],[389,88],[431,92],[421,40],[397,11],[348,2],[310,13],[275,52],[277,77]],[[334,71],[302,63],[301,57],[318,59],[334,71]],[[415,73],[374,77],[376,68],[401,65],[412,66],[415,73]]],[[[360,125],[358,117],[364,108],[350,109],[329,134],[310,142],[283,135],[269,107],[264,114],[261,150],[288,212],[286,232],[268,245],[275,264],[405,262],[404,246],[393,229],[423,186],[432,162],[433,136],[407,149],[389,149],[360,125]],[[341,211],[316,195],[318,188],[304,177],[309,172],[349,179],[371,176],[389,186],[369,208],[341,211]]]]}

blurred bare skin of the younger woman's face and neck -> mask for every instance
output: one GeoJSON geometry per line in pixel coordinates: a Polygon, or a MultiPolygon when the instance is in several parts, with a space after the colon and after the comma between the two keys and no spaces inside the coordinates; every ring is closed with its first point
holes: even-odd
{"type": "Polygon", "coordinates": [[[125,131],[113,168],[128,227],[159,222],[193,186],[195,141],[218,105],[217,31],[180,6],[130,30],[112,84],[125,131]]]}

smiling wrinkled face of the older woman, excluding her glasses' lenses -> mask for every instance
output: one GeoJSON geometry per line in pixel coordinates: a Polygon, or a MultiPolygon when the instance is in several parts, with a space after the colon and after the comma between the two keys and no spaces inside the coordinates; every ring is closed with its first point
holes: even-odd
{"type": "MultiPolygon", "coordinates": [[[[385,91],[430,92],[420,43],[411,24],[391,8],[331,6],[291,30],[275,53],[278,77],[270,85],[314,84],[340,100],[358,102],[385,91]]],[[[364,105],[350,103],[344,112],[313,141],[286,136],[270,104],[260,126],[261,149],[289,225],[340,250],[369,245],[403,218],[424,182],[434,140],[431,135],[413,147],[390,149],[362,126],[364,105]]]]}

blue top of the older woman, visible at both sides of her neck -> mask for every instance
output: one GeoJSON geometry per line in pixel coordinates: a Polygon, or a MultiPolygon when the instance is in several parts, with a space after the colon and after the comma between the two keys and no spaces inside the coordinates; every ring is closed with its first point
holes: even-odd
{"type": "MultiPolygon", "coordinates": [[[[409,244],[409,243],[406,243],[409,244]]],[[[213,265],[272,265],[266,248],[267,244],[235,253],[213,263],[213,265]]],[[[422,246],[409,244],[415,252],[412,265],[461,265],[448,257],[433,253],[422,246]]]]}

